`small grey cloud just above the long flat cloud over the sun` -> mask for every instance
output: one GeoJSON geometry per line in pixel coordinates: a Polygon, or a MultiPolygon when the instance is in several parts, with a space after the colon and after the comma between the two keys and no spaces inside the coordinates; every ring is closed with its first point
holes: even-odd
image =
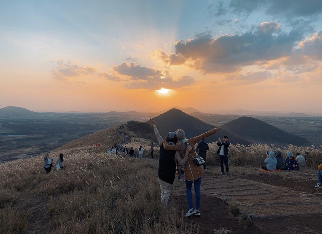
{"type": "Polygon", "coordinates": [[[114,71],[121,75],[131,76],[132,80],[148,80],[152,77],[168,77],[169,72],[140,66],[137,63],[123,63],[113,67],[114,71]]]}

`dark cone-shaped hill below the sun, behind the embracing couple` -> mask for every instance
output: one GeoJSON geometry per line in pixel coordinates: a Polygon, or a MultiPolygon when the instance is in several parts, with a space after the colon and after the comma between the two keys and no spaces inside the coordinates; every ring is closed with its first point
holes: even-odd
{"type": "MultiPolygon", "coordinates": [[[[200,119],[188,115],[178,109],[171,109],[155,117],[155,121],[156,126],[162,137],[165,137],[168,134],[168,132],[175,131],[179,128],[185,131],[187,138],[198,136],[204,132],[210,131],[211,129],[215,128],[215,126],[208,123],[204,123],[200,119]]],[[[229,137],[229,141],[233,144],[250,144],[249,141],[241,137],[234,136],[224,128],[223,130],[220,130],[218,133],[207,137],[206,142],[215,142],[217,141],[218,137],[221,137],[222,139],[224,135],[227,135],[229,137]]]]}

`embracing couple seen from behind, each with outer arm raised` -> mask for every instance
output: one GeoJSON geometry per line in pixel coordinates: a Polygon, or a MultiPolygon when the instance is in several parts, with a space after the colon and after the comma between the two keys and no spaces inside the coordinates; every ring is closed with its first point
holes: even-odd
{"type": "MultiPolygon", "coordinates": [[[[176,174],[176,165],[179,164],[185,168],[186,197],[189,210],[186,217],[200,215],[200,185],[201,178],[205,174],[203,165],[196,165],[194,159],[198,156],[195,150],[195,144],[202,139],[211,136],[220,128],[214,128],[199,136],[187,139],[182,129],[175,132],[169,132],[164,140],[156,127],[156,121],[150,118],[153,125],[154,133],[160,145],[160,157],[158,167],[158,183],[161,189],[161,202],[167,205],[172,190],[173,182],[176,174]],[[195,206],[192,200],[192,184],[195,190],[195,206]]],[[[200,146],[199,146],[200,148],[200,146]]]]}

